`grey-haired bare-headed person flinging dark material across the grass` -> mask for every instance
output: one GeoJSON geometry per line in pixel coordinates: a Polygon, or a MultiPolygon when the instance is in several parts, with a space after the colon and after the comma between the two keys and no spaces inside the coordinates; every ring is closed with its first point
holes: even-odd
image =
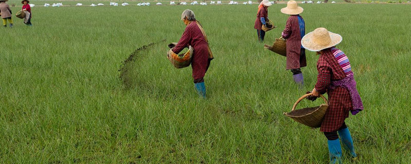
{"type": "Polygon", "coordinates": [[[176,54],[185,47],[192,46],[194,55],[191,61],[193,69],[194,86],[198,94],[206,98],[206,86],[204,85],[204,75],[206,74],[213,54],[210,50],[207,35],[204,33],[201,24],[196,20],[194,12],[187,9],[181,14],[181,20],[186,25],[177,45],[172,49],[176,54]]]}

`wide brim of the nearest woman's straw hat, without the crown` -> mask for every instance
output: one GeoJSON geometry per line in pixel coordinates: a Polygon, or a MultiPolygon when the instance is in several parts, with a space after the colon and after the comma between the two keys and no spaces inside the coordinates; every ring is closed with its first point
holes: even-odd
{"type": "Polygon", "coordinates": [[[328,32],[328,34],[330,35],[331,43],[327,45],[317,45],[313,42],[314,31],[304,35],[304,37],[301,39],[301,45],[303,45],[303,47],[309,51],[317,52],[330,47],[334,47],[335,45],[340,44],[343,40],[343,37],[340,34],[332,32],[328,32]]]}

